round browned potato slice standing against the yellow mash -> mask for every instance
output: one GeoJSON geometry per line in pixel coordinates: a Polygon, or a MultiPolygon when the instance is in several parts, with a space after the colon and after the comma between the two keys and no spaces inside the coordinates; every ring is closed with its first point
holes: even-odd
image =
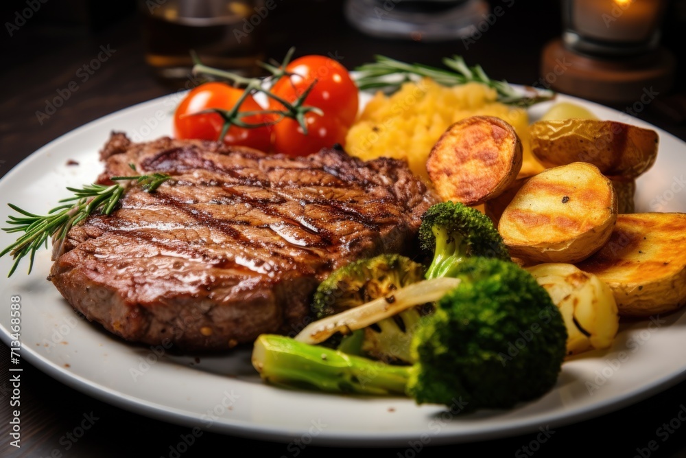
{"type": "Polygon", "coordinates": [[[499,117],[472,116],[450,126],[427,159],[427,172],[443,201],[480,205],[517,178],[522,145],[499,117]]]}

